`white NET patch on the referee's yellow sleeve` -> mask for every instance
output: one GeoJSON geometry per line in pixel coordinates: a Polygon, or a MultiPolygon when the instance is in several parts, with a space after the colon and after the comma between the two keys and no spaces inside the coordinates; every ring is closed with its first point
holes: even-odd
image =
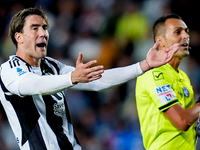
{"type": "Polygon", "coordinates": [[[176,94],[171,89],[171,85],[162,85],[155,88],[161,104],[166,104],[169,101],[176,99],[176,94]]]}

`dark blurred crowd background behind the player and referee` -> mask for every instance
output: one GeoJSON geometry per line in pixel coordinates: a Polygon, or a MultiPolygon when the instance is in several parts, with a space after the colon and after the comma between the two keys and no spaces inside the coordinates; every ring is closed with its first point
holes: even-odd
{"type": "MultiPolygon", "coordinates": [[[[75,66],[97,59],[105,69],[142,61],[153,46],[152,25],[177,13],[190,29],[190,56],[180,68],[200,94],[200,9],[196,0],[1,0],[0,63],[16,48],[8,36],[12,16],[28,8],[48,16],[48,56],[75,66]]],[[[83,150],[144,150],[135,103],[135,79],[102,92],[66,91],[75,132],[83,150]]],[[[2,106],[0,150],[19,150],[2,106]]]]}

